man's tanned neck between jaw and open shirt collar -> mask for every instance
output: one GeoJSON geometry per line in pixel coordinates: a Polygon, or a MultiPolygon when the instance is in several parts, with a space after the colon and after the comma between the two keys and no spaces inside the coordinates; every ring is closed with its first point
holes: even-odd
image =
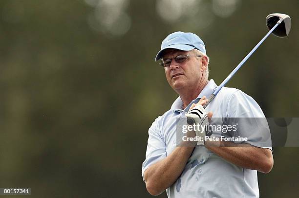
{"type": "MultiPolygon", "coordinates": [[[[200,94],[203,88],[205,88],[208,82],[208,79],[203,79],[197,84],[197,86],[177,90],[177,93],[183,101],[183,109],[185,109],[188,106],[188,104],[192,102],[193,99],[197,98],[197,96],[200,94]]],[[[208,98],[209,96],[206,97],[208,98]]]]}

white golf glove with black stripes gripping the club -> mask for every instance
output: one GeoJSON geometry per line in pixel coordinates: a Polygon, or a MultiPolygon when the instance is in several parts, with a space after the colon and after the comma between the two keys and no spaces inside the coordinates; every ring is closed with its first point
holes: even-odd
{"type": "MultiPolygon", "coordinates": [[[[194,106],[192,109],[189,109],[188,113],[185,114],[187,117],[187,123],[190,125],[199,125],[200,130],[195,130],[196,136],[199,138],[197,141],[197,145],[204,145],[206,134],[211,136],[212,133],[210,131],[206,132],[206,128],[209,127],[209,119],[208,115],[201,104],[194,106]],[[202,127],[201,127],[202,126],[202,127]],[[203,130],[202,130],[203,129],[203,130]],[[201,137],[201,138],[200,138],[201,137]]],[[[196,127],[196,129],[198,129],[196,127]]]]}

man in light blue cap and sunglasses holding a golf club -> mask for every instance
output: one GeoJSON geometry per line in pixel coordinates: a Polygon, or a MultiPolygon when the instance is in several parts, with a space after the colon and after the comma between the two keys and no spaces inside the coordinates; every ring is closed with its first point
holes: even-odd
{"type": "MultiPolygon", "coordinates": [[[[189,141],[184,146],[184,142],[178,143],[176,127],[177,120],[186,120],[185,114],[195,108],[209,112],[203,112],[209,119],[222,118],[221,125],[231,118],[264,118],[256,101],[240,90],[224,87],[206,109],[202,108],[217,85],[213,79],[208,80],[209,57],[203,41],[195,34],[170,34],[162,42],[156,56],[159,59],[167,81],[179,97],[149,128],[142,165],[148,192],[159,195],[166,190],[169,198],[259,197],[257,171],[270,172],[273,156],[271,145],[260,144],[264,140],[256,128],[250,132],[238,129],[240,134],[248,135],[247,141],[207,140],[203,146],[189,141]]],[[[250,124],[256,125],[267,129],[269,138],[268,125],[250,124]]]]}

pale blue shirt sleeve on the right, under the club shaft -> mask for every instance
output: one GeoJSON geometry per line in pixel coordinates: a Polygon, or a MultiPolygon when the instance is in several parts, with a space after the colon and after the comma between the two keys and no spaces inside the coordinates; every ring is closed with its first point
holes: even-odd
{"type": "Polygon", "coordinates": [[[234,92],[228,101],[226,114],[227,123],[236,125],[231,136],[247,138],[247,141],[234,141],[235,143],[248,143],[272,150],[267,119],[252,97],[240,90],[234,92]]]}

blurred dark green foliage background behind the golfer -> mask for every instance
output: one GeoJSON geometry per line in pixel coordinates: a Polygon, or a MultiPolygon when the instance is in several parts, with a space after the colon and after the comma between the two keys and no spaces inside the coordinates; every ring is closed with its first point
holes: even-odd
{"type": "MultiPolygon", "coordinates": [[[[298,117],[298,10],[298,0],[1,0],[0,187],[151,197],[141,178],[148,128],[177,97],[154,56],[174,31],[205,41],[219,84],[267,33],[265,17],[289,14],[289,37],[270,36],[228,86],[267,117],[298,117]]],[[[298,195],[298,152],[274,148],[261,197],[298,195]]]]}

